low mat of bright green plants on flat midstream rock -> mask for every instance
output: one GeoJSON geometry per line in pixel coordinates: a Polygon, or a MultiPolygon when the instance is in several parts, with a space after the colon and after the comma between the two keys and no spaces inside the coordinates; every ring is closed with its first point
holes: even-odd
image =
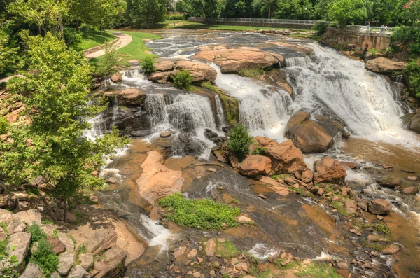
{"type": "Polygon", "coordinates": [[[192,200],[181,193],[167,196],[159,201],[167,209],[167,218],[178,225],[202,230],[236,228],[239,208],[209,199],[192,200]]]}

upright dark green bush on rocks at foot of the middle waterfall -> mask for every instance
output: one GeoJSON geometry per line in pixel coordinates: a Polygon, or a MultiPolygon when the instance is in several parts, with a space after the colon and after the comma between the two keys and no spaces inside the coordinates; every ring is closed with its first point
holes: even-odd
{"type": "Polygon", "coordinates": [[[244,125],[235,125],[229,131],[230,151],[239,159],[243,160],[249,153],[249,146],[252,144],[252,137],[249,136],[248,127],[244,125]]]}

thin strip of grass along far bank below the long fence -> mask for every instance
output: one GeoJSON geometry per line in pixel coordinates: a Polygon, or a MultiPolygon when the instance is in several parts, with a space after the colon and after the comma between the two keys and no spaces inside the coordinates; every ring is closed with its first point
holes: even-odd
{"type": "MultiPolygon", "coordinates": [[[[206,26],[203,23],[190,22],[187,20],[166,20],[164,23],[158,25],[159,28],[189,28],[189,29],[213,29],[213,30],[232,30],[232,31],[246,31],[246,30],[290,30],[290,28],[273,28],[273,27],[254,27],[254,26],[237,26],[237,25],[210,25],[206,26]],[[175,23],[175,25],[174,25],[175,23]]],[[[307,32],[311,30],[293,29],[295,31],[307,32]]]]}

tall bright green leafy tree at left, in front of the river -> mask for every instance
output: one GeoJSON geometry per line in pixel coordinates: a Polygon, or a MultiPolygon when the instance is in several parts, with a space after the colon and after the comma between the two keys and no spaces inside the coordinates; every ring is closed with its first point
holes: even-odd
{"type": "Polygon", "coordinates": [[[10,90],[25,102],[28,123],[11,128],[11,140],[0,144],[0,174],[8,184],[21,184],[43,175],[51,194],[63,201],[105,185],[92,172],[104,164],[104,155],[127,144],[118,131],[91,141],[83,132],[87,118],[106,109],[90,94],[91,67],[83,54],[47,33],[25,38],[29,71],[10,90]]]}

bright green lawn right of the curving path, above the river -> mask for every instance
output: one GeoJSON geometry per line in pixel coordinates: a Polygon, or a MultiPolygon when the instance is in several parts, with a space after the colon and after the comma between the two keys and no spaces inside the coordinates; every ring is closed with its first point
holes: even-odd
{"type": "MultiPolygon", "coordinates": [[[[149,56],[158,57],[158,55],[154,55],[151,53],[151,48],[148,48],[146,46],[145,40],[162,39],[162,36],[157,36],[155,34],[144,32],[128,32],[121,30],[118,30],[118,32],[128,34],[132,37],[131,43],[129,43],[127,46],[124,46],[123,48],[116,50],[116,53],[122,59],[122,64],[127,64],[127,62],[130,60],[141,61],[145,57],[149,56]]],[[[103,59],[103,57],[104,56],[100,56],[92,59],[92,63],[96,64],[101,59],[103,59]]]]}

